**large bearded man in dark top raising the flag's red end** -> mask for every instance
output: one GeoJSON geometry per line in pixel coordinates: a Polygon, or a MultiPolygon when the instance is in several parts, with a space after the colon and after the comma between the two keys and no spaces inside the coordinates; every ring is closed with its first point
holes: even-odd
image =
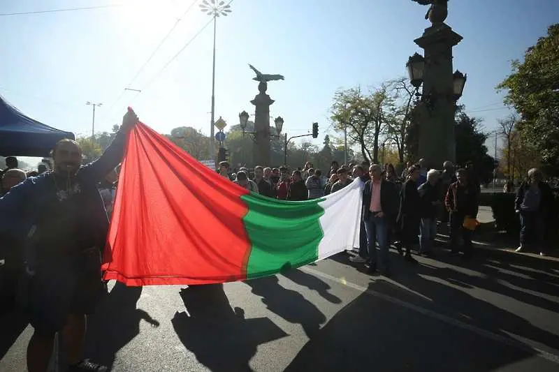
{"type": "Polygon", "coordinates": [[[0,229],[28,236],[22,301],[34,327],[29,372],[47,369],[57,332],[66,345],[67,371],[107,371],[82,359],[86,314],[94,311],[103,291],[99,250],[108,230],[96,186],[122,161],[126,133],[136,123],[129,110],[112,144],[87,165],[81,165],[77,142],[59,141],[52,151],[54,172],[27,179],[0,198],[0,229]]]}

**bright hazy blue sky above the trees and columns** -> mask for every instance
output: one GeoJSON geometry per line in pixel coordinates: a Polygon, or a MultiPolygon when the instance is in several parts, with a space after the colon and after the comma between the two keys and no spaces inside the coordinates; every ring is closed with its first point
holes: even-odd
{"type": "MultiPolygon", "coordinates": [[[[131,105],[161,133],[192,126],[209,134],[213,27],[200,2],[2,0],[0,94],[28,116],[76,135],[92,131],[87,101],[103,104],[96,132],[110,131],[131,105]],[[96,6],[106,7],[7,14],[96,6]]],[[[421,54],[413,40],[430,26],[427,7],[410,0],[233,0],[231,9],[217,19],[216,119],[235,125],[242,110],[254,114],[252,64],[285,77],[268,84],[270,115],[284,118],[289,136],[310,133],[317,121],[319,146],[332,134],[335,91],[405,76],[408,57],[421,54]]],[[[463,36],[453,68],[467,73],[459,102],[484,119],[486,131],[510,112],[495,91],[510,61],[522,59],[558,20],[557,0],[449,1],[446,23],[463,36]]],[[[488,147],[493,155],[493,141],[488,147]]]]}

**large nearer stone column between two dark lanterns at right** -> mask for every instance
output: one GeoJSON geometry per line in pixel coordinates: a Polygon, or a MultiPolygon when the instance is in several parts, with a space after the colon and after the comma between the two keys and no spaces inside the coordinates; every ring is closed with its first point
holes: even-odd
{"type": "Polygon", "coordinates": [[[435,169],[441,168],[444,161],[456,161],[452,48],[462,36],[443,22],[447,17],[444,2],[444,6],[434,2],[428,13],[433,25],[414,40],[423,49],[425,59],[418,152],[419,158],[426,158],[428,167],[435,169]]]}

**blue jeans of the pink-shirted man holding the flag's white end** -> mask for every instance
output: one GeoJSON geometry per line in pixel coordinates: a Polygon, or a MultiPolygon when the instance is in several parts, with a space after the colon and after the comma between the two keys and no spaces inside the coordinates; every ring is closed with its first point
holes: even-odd
{"type": "Polygon", "coordinates": [[[367,248],[369,251],[369,263],[371,268],[378,268],[381,272],[389,269],[389,224],[384,217],[370,216],[365,221],[367,232],[367,248]],[[377,258],[377,245],[379,243],[379,255],[377,258]]]}

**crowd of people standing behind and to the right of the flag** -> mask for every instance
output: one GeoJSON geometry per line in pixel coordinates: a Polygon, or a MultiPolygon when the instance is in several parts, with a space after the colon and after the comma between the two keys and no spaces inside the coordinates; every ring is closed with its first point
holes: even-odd
{"type": "MultiPolygon", "coordinates": [[[[254,172],[248,168],[231,172],[230,165],[223,161],[218,172],[249,191],[293,201],[321,198],[361,178],[365,182],[361,241],[351,261],[365,263],[371,273],[389,275],[390,246],[409,262],[416,262],[414,250],[419,255],[433,255],[441,223],[449,228],[451,254],[462,253],[466,260],[472,256],[481,193],[472,163],[458,168],[445,161],[442,170],[428,170],[425,160],[420,159],[416,164],[407,163],[398,175],[391,164],[370,165],[368,161],[342,166],[333,161],[328,174],[314,169],[310,162],[293,171],[286,166],[257,166],[254,172]]],[[[542,173],[530,170],[516,196],[515,209],[521,221],[521,244],[516,251],[524,251],[530,241],[535,241],[540,255],[545,255],[550,198],[551,188],[542,181],[542,173]]]]}

